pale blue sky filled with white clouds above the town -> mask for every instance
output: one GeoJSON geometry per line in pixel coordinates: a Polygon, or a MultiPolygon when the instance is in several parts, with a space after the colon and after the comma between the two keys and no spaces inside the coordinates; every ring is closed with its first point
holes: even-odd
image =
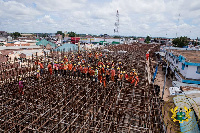
{"type": "Polygon", "coordinates": [[[131,36],[200,36],[199,0],[0,0],[0,30],[131,36]],[[178,21],[179,20],[179,21],[178,21]]]}

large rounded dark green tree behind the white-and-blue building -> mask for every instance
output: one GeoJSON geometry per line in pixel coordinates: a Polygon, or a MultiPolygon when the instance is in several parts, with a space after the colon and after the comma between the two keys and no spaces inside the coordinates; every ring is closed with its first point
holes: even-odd
{"type": "Polygon", "coordinates": [[[178,37],[178,38],[175,38],[173,41],[173,46],[174,47],[184,47],[184,46],[187,46],[189,41],[188,41],[188,38],[186,36],[184,37],[178,37]]]}

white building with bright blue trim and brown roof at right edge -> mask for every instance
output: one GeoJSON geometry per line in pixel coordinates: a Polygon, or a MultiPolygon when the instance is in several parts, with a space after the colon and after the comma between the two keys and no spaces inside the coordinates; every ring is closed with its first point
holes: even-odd
{"type": "Polygon", "coordinates": [[[200,84],[200,51],[186,49],[167,49],[166,59],[175,72],[178,81],[200,84]]]}

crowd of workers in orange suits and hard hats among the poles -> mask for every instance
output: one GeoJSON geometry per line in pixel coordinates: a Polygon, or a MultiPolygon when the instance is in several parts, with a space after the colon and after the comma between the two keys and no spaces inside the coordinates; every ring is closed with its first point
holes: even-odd
{"type": "MultiPolygon", "coordinates": [[[[120,86],[122,82],[128,82],[134,86],[138,84],[139,78],[135,69],[127,72],[124,70],[122,62],[108,61],[106,56],[98,52],[89,52],[86,59],[81,54],[71,53],[70,56],[64,56],[59,62],[49,62],[47,70],[50,75],[87,79],[99,82],[104,87],[109,82],[115,82],[120,86]]],[[[38,65],[36,78],[40,79],[45,70],[44,62],[35,62],[35,64],[38,65]]],[[[20,82],[20,84],[22,83],[20,82]]]]}

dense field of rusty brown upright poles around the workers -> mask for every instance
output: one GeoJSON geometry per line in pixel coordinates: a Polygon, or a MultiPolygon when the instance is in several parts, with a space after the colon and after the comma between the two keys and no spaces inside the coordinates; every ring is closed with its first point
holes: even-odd
{"type": "MultiPolygon", "coordinates": [[[[18,79],[4,82],[0,89],[0,131],[163,132],[162,104],[153,85],[148,84],[145,71],[145,53],[151,47],[108,47],[114,53],[108,54],[107,60],[122,59],[126,71],[132,67],[138,70],[140,82],[136,87],[126,82],[109,82],[104,87],[87,78],[50,76],[47,72],[35,80],[27,74],[30,69],[22,73],[25,94],[17,97],[18,79]],[[119,50],[128,53],[119,54],[119,50]]],[[[64,55],[69,56],[61,52],[60,58],[64,55]]],[[[52,54],[51,58],[55,57],[59,59],[59,53],[52,54]]]]}

